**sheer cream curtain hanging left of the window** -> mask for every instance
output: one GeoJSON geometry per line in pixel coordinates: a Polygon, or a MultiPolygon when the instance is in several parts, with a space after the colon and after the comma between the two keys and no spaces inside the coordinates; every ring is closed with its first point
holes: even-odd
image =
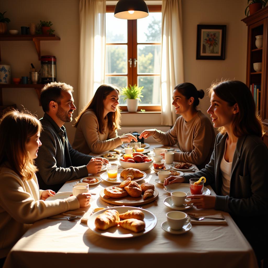
{"type": "Polygon", "coordinates": [[[80,0],[78,110],[105,79],[105,0],[80,0]]]}

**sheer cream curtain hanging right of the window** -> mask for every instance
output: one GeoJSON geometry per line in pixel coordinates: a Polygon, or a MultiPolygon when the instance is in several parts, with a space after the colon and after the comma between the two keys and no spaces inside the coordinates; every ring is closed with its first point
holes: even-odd
{"type": "Polygon", "coordinates": [[[172,126],[176,113],[172,105],[175,85],[184,82],[181,0],[162,2],[161,125],[172,126]]]}

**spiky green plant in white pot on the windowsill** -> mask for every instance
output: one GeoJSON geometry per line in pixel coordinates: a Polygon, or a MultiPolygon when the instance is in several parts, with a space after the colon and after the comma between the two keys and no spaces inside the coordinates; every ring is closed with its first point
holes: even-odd
{"type": "Polygon", "coordinates": [[[129,85],[129,87],[124,87],[121,90],[122,96],[124,96],[124,101],[126,100],[126,105],[129,112],[136,112],[138,110],[140,97],[142,96],[143,87],[138,87],[135,85],[129,85]]]}

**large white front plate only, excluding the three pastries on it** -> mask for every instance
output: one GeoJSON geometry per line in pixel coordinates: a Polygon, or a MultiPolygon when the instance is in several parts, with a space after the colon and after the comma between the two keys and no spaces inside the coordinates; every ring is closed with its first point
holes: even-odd
{"type": "Polygon", "coordinates": [[[157,224],[157,218],[155,217],[155,215],[152,214],[150,211],[145,210],[145,209],[140,209],[140,208],[136,208],[136,207],[113,207],[113,208],[109,208],[109,209],[117,210],[120,214],[125,213],[128,210],[136,210],[136,209],[141,210],[144,214],[143,221],[145,223],[145,230],[142,232],[139,232],[139,233],[134,233],[134,232],[127,230],[127,229],[124,229],[120,226],[113,226],[113,227],[108,228],[106,230],[96,229],[96,227],[95,227],[96,217],[99,214],[103,213],[104,211],[108,210],[108,209],[103,209],[103,210],[97,211],[94,214],[92,214],[87,221],[88,228],[92,232],[94,232],[96,235],[103,236],[103,237],[116,238],[116,239],[132,238],[132,237],[141,236],[141,235],[144,235],[144,234],[150,232],[152,229],[155,228],[155,226],[157,224]]]}

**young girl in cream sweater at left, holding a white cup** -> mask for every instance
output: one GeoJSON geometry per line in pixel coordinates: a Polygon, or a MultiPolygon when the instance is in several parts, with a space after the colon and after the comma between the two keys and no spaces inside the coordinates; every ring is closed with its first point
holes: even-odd
{"type": "Polygon", "coordinates": [[[55,192],[39,190],[35,176],[41,130],[41,123],[24,112],[10,111],[0,122],[0,267],[30,224],[89,204],[88,193],[44,201],[55,192]]]}

